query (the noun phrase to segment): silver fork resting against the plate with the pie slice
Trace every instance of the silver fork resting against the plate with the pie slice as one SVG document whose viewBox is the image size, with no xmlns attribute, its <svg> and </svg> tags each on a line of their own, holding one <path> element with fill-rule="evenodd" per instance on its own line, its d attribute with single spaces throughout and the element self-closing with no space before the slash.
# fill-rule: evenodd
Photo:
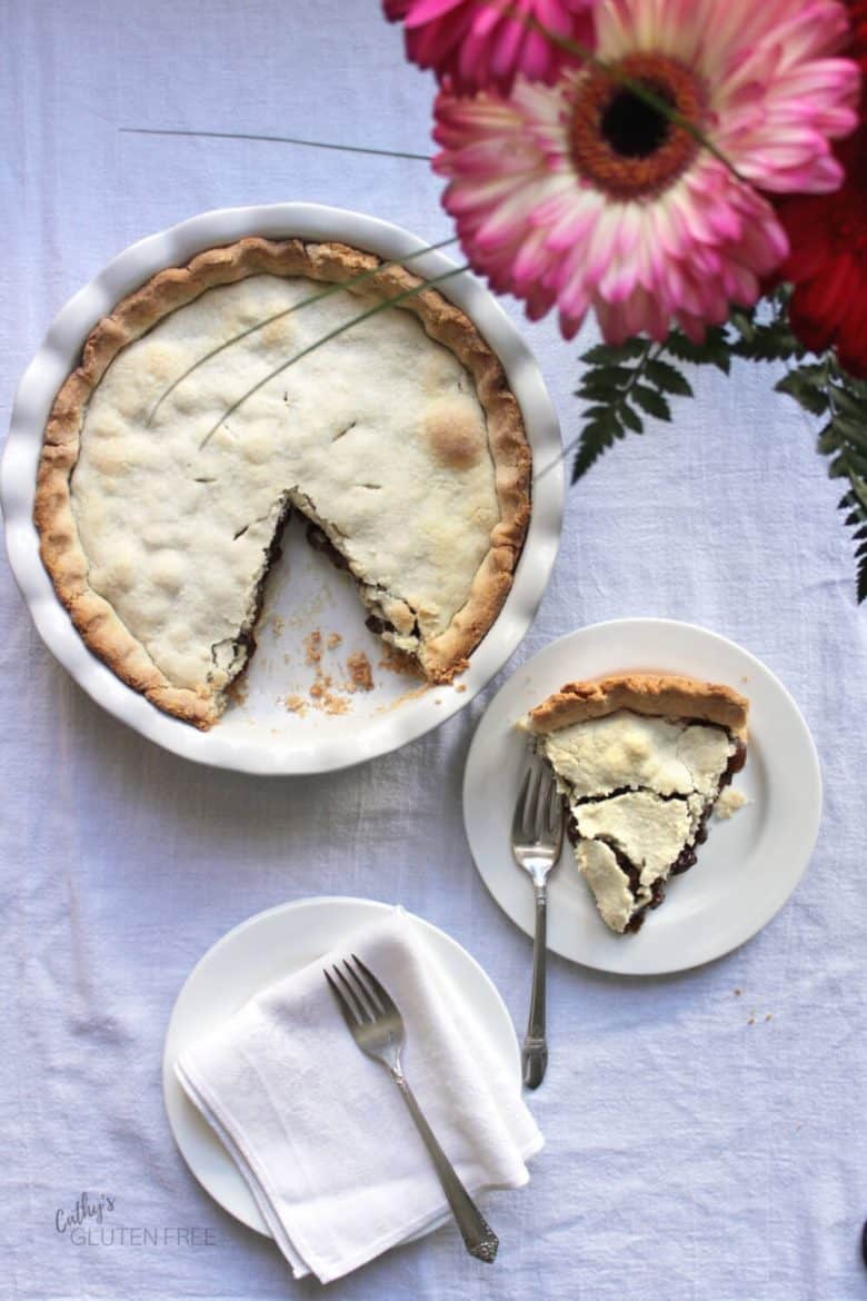
<svg viewBox="0 0 867 1301">
<path fill-rule="evenodd" d="M 545 1036 L 545 961 L 547 958 L 547 878 L 563 848 L 563 804 L 552 773 L 530 765 L 512 818 L 512 853 L 533 879 L 536 937 L 530 1015 L 521 1049 L 524 1084 L 538 1089 L 545 1079 L 549 1050 Z"/>
</svg>

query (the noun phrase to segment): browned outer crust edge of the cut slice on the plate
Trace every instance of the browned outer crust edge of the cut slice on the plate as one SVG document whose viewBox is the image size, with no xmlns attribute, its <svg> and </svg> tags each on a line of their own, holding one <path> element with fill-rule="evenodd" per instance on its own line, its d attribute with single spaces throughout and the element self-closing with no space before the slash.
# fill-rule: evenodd
<svg viewBox="0 0 867 1301">
<path fill-rule="evenodd" d="M 550 732 L 619 709 L 718 723 L 746 740 L 749 701 L 744 696 L 723 683 L 662 673 L 615 673 L 567 682 L 530 710 L 526 726 L 533 732 Z"/>
</svg>

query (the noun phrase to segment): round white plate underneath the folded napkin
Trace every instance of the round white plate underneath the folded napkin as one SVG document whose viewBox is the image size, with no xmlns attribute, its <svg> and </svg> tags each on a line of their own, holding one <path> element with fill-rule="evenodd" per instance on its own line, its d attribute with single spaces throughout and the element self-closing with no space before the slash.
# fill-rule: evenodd
<svg viewBox="0 0 867 1301">
<path fill-rule="evenodd" d="M 339 896 L 279 904 L 243 921 L 199 960 L 178 994 L 162 1054 L 162 1097 L 169 1124 L 187 1166 L 224 1210 L 270 1236 L 234 1160 L 188 1101 L 174 1075 L 181 1053 L 229 1020 L 266 985 L 315 961 L 344 935 L 389 912 L 373 899 Z M 432 948 L 458 981 L 467 1006 L 485 1025 L 494 1049 L 521 1090 L 521 1055 L 506 1004 L 490 977 L 465 948 L 417 917 Z"/>
</svg>

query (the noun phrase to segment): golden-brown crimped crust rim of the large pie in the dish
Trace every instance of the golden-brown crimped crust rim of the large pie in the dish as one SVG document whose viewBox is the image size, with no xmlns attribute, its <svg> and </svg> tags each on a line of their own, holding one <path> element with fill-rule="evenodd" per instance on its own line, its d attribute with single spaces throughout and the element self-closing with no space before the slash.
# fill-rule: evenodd
<svg viewBox="0 0 867 1301">
<path fill-rule="evenodd" d="M 55 398 L 39 461 L 34 522 L 40 556 L 57 596 L 88 649 L 118 678 L 165 713 L 200 729 L 213 726 L 220 718 L 231 682 L 247 665 L 272 554 L 266 554 L 251 591 L 247 617 L 235 635 L 222 687 L 208 692 L 173 684 L 112 604 L 88 583 L 88 559 L 78 535 L 71 493 L 88 401 L 110 363 L 129 343 L 208 289 L 256 275 L 302 276 L 341 284 L 377 267 L 381 271 L 364 281 L 365 294 L 376 293 L 385 301 L 422 284 L 400 265 L 382 263 L 372 254 L 337 242 L 248 237 L 209 248 L 187 265 L 157 272 L 103 317 L 84 342 L 81 364 Z M 521 411 L 503 367 L 469 317 L 434 289 L 425 289 L 395 306 L 412 312 L 425 333 L 448 349 L 472 376 L 485 415 L 499 505 L 499 520 L 491 530 L 490 546 L 476 571 L 468 600 L 448 627 L 426 643 L 421 671 L 429 682 L 439 684 L 451 682 L 467 667 L 467 657 L 490 630 L 511 589 L 530 514 L 530 450 Z M 447 462 L 450 455 L 460 457 L 460 449 L 443 446 L 441 455 Z M 279 518 L 274 519 L 274 545 L 291 505 L 328 535 L 328 523 L 317 520 L 303 503 L 290 501 L 290 496 L 286 494 L 281 510 L 276 511 Z M 359 591 L 364 600 L 361 584 Z"/>
</svg>

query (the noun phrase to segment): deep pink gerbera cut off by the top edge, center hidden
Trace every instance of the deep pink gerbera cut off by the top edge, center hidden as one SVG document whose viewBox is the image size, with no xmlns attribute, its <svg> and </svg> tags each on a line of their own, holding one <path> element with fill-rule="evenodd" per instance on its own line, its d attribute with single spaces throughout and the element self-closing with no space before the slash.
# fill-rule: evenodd
<svg viewBox="0 0 867 1301">
<path fill-rule="evenodd" d="M 507 91 L 516 73 L 554 82 L 575 55 L 551 44 L 528 20 L 585 47 L 593 44 L 595 0 L 383 0 L 386 18 L 403 20 L 407 55 L 448 75 L 459 91 Z"/>
</svg>

